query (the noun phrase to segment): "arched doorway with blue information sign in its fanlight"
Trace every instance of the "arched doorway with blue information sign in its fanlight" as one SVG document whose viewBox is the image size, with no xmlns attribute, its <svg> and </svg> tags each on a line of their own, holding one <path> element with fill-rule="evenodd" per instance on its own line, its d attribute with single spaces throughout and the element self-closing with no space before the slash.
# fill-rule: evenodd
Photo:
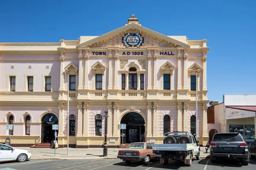
<svg viewBox="0 0 256 170">
<path fill-rule="evenodd" d="M 55 136 L 54 132 L 55 130 L 52 130 L 52 125 L 58 124 L 58 118 L 52 113 L 48 113 L 44 115 L 42 118 L 42 136 L 41 141 L 42 143 L 51 143 Z M 58 134 L 58 130 L 57 134 Z"/>
</svg>

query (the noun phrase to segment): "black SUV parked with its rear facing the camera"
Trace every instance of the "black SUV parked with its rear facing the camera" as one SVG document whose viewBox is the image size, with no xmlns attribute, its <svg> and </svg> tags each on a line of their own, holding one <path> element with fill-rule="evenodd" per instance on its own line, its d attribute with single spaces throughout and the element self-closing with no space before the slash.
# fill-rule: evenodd
<svg viewBox="0 0 256 170">
<path fill-rule="evenodd" d="M 210 143 L 210 159 L 238 159 L 243 165 L 248 165 L 249 150 L 240 133 L 215 133 Z"/>
</svg>

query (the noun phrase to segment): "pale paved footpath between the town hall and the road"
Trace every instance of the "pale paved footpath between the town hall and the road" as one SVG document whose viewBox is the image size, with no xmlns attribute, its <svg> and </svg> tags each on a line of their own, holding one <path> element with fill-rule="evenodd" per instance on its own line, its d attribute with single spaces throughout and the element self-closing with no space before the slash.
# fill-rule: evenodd
<svg viewBox="0 0 256 170">
<path fill-rule="evenodd" d="M 29 148 L 16 147 L 17 149 L 29 150 L 32 153 L 31 159 L 117 159 L 118 150 L 122 148 L 108 148 L 108 156 L 103 157 L 103 148 L 87 148 L 76 149 L 69 148 L 67 155 L 67 148 L 56 149 L 54 156 L 54 149 L 50 148 Z M 209 153 L 205 153 L 205 148 L 201 147 L 201 158 L 206 158 Z"/>
</svg>

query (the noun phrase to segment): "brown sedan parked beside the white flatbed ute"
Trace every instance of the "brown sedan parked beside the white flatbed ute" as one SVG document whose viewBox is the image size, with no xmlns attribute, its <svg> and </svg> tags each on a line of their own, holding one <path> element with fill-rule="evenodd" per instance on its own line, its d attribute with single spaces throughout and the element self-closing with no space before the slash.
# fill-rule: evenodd
<svg viewBox="0 0 256 170">
<path fill-rule="evenodd" d="M 129 144 L 125 149 L 119 150 L 117 158 L 122 159 L 128 164 L 131 161 L 143 161 L 144 164 L 148 164 L 150 159 L 156 157 L 153 153 L 151 143 L 135 142 Z"/>
</svg>

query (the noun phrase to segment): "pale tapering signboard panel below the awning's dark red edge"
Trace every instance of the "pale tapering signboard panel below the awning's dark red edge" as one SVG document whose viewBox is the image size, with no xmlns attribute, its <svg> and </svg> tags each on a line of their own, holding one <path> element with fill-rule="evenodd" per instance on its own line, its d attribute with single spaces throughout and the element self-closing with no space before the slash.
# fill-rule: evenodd
<svg viewBox="0 0 256 170">
<path fill-rule="evenodd" d="M 254 111 L 244 111 L 239 109 L 226 108 L 226 119 L 240 119 L 255 116 L 256 112 Z"/>
</svg>

